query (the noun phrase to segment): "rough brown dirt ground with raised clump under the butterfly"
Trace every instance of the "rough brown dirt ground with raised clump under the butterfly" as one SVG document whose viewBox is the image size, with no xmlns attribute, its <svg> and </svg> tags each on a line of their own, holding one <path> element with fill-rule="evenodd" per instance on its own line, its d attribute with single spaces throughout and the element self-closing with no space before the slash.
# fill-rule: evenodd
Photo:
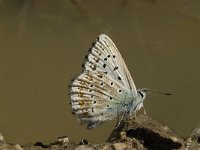
<svg viewBox="0 0 200 150">
<path fill-rule="evenodd" d="M 0 134 L 0 149 L 8 150 L 41 150 L 41 149 L 200 149 L 200 128 L 196 127 L 191 135 L 183 139 L 168 126 L 153 120 L 146 115 L 140 115 L 131 120 L 123 120 L 110 134 L 107 142 L 93 144 L 87 139 L 73 143 L 70 137 L 63 136 L 48 145 L 36 142 L 33 145 L 10 144 Z"/>
</svg>

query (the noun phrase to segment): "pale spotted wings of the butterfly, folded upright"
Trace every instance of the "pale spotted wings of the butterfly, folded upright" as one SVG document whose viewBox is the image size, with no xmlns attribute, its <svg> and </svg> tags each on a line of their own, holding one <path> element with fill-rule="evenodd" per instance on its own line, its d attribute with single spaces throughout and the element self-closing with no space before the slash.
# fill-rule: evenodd
<svg viewBox="0 0 200 150">
<path fill-rule="evenodd" d="M 93 129 L 115 118 L 122 101 L 137 91 L 123 58 L 105 34 L 93 43 L 83 67 L 72 83 L 72 111 Z"/>
</svg>

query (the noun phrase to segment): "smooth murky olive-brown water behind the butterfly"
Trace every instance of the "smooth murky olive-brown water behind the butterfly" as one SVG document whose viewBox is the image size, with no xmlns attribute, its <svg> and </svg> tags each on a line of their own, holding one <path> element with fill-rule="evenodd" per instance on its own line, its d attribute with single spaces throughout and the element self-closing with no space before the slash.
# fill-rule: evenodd
<svg viewBox="0 0 200 150">
<path fill-rule="evenodd" d="M 9 142 L 105 141 L 115 121 L 88 131 L 70 113 L 70 80 L 100 33 L 109 35 L 149 116 L 187 136 L 199 121 L 200 2 L 0 0 L 0 132 Z"/>
</svg>

